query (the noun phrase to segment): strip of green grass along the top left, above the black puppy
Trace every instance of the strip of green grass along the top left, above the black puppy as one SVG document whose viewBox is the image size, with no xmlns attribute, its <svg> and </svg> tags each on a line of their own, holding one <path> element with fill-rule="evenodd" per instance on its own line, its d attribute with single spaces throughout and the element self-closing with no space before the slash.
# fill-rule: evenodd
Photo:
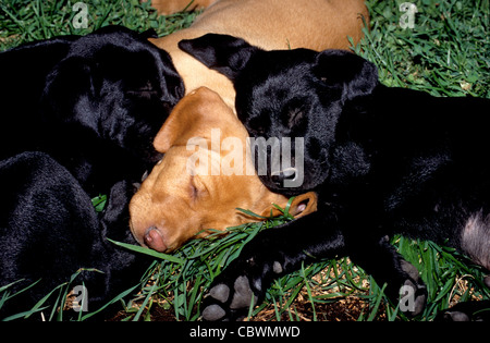
<svg viewBox="0 0 490 343">
<path fill-rule="evenodd" d="M 78 14 L 73 11 L 76 2 L 87 4 L 86 28 L 73 25 Z M 195 13 L 161 16 L 148 2 L 139 0 L 4 0 L 0 2 L 0 51 L 58 35 L 86 35 L 107 25 L 123 25 L 138 32 L 154 28 L 164 36 L 189 26 L 195 16 Z"/>
</svg>

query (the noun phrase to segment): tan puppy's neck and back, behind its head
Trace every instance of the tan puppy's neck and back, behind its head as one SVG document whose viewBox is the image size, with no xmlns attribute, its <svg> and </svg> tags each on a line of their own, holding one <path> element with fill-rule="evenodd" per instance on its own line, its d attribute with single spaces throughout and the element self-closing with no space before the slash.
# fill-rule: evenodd
<svg viewBox="0 0 490 343">
<path fill-rule="evenodd" d="M 167 3 L 172 2 L 182 1 Z M 363 16 L 368 21 L 363 0 L 219 0 L 189 28 L 150 40 L 170 53 L 187 94 L 206 86 L 234 109 L 231 82 L 181 51 L 179 41 L 216 33 L 243 38 L 266 50 L 348 49 L 347 36 L 355 44 L 363 37 Z"/>
</svg>

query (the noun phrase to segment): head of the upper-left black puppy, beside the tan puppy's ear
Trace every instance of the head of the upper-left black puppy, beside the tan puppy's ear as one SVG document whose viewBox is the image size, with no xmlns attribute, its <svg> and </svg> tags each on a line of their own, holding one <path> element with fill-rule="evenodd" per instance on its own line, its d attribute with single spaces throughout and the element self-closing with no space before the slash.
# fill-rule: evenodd
<svg viewBox="0 0 490 343">
<path fill-rule="evenodd" d="M 170 56 L 146 38 L 119 26 L 81 37 L 47 76 L 41 99 L 48 122 L 85 131 L 102 142 L 107 161 L 117 156 L 139 170 L 160 158 L 152 139 L 184 95 Z"/>
</svg>

